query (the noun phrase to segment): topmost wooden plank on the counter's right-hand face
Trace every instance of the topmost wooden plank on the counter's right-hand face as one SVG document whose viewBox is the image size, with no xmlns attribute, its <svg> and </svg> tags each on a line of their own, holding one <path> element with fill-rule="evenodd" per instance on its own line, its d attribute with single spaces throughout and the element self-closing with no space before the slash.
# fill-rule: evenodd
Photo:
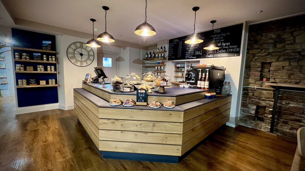
<svg viewBox="0 0 305 171">
<path fill-rule="evenodd" d="M 197 116 L 199 116 L 203 113 L 206 113 L 210 110 L 213 110 L 213 109 L 215 109 L 219 106 L 227 104 L 227 103 L 231 102 L 231 99 L 232 99 L 232 96 L 228 96 L 228 97 L 225 97 L 223 99 L 215 100 L 213 102 L 210 102 L 210 103 L 192 108 L 190 110 L 186 110 L 184 112 L 183 122 L 185 122 L 187 120 L 190 120 L 194 117 L 197 117 Z"/>
</svg>

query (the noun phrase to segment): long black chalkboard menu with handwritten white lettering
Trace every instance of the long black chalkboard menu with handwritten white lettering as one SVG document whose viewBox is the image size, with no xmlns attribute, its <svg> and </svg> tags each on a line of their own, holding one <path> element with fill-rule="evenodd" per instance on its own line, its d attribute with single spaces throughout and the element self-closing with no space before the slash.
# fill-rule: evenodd
<svg viewBox="0 0 305 171">
<path fill-rule="evenodd" d="M 243 23 L 198 33 L 203 39 L 203 42 L 199 44 L 184 43 L 188 36 L 170 39 L 168 44 L 168 60 L 239 56 L 242 26 Z M 210 44 L 213 40 L 219 49 L 203 49 L 203 47 L 206 47 L 206 44 Z"/>
</svg>

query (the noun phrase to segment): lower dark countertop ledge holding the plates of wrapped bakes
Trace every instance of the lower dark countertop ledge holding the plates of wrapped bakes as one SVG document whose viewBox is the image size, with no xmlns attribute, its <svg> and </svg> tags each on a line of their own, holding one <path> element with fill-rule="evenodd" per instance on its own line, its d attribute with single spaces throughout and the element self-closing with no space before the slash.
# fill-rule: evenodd
<svg viewBox="0 0 305 171">
<path fill-rule="evenodd" d="M 179 87 L 180 88 L 180 87 Z M 181 88 L 182 89 L 182 88 Z M 188 88 L 187 88 L 188 89 Z M 76 92 L 80 93 L 81 95 L 83 95 L 85 98 L 87 98 L 88 100 L 90 100 L 92 103 L 95 103 L 95 105 L 99 106 L 99 107 L 106 107 L 106 108 L 124 108 L 124 109 L 141 109 L 141 110 L 152 110 L 154 108 L 149 107 L 149 105 L 146 106 L 142 106 L 142 105 L 134 105 L 131 107 L 126 107 L 123 106 L 123 104 L 119 105 L 119 106 L 110 106 L 109 102 L 100 98 L 99 96 L 96 96 L 95 94 L 83 89 L 83 88 L 75 88 L 74 89 Z M 196 90 L 196 89 L 195 89 Z M 148 94 L 148 96 L 151 96 L 151 93 Z M 231 95 L 230 95 L 231 96 Z M 189 102 L 189 103 L 184 103 L 181 105 L 177 105 L 172 109 L 166 108 L 163 105 L 158 108 L 158 109 L 154 109 L 154 110 L 174 110 L 174 111 L 185 111 L 185 110 L 189 110 L 191 108 L 206 104 L 206 103 L 210 103 L 213 102 L 215 100 L 219 100 L 219 99 L 223 99 L 225 97 L 228 96 L 224 96 L 224 97 L 215 97 L 212 99 L 199 99 L 193 102 Z M 110 99 L 109 99 L 110 100 Z M 163 104 L 163 102 L 160 102 L 161 104 Z"/>
</svg>

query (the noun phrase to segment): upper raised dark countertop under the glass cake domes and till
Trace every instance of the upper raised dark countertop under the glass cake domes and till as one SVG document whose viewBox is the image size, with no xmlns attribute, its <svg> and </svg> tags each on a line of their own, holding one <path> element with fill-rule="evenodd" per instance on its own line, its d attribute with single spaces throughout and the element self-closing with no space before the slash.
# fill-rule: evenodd
<svg viewBox="0 0 305 171">
<path fill-rule="evenodd" d="M 97 88 L 97 89 L 101 89 L 102 91 L 108 92 L 109 94 L 136 95 L 136 91 L 133 91 L 133 92 L 111 91 L 110 84 L 106 84 L 106 85 L 100 85 L 97 83 L 83 83 L 83 84 L 89 85 L 89 86 Z M 138 86 L 139 85 L 137 85 L 136 87 L 138 87 Z M 152 89 L 152 92 L 148 93 L 148 94 L 149 94 L 149 96 L 183 96 L 185 94 L 205 92 L 205 91 L 210 91 L 210 90 L 214 90 L 214 89 L 202 90 L 202 89 L 190 89 L 190 88 L 184 88 L 184 87 L 170 87 L 170 88 L 165 88 L 164 93 L 160 93 L 160 92 Z"/>
</svg>

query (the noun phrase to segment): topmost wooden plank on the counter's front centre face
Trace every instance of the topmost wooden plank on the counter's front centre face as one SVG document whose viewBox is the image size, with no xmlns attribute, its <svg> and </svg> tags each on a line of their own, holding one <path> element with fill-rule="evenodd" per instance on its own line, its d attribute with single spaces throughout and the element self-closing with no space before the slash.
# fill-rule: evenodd
<svg viewBox="0 0 305 171">
<path fill-rule="evenodd" d="M 99 118 L 182 122 L 183 112 L 153 109 L 99 108 Z"/>
</svg>

